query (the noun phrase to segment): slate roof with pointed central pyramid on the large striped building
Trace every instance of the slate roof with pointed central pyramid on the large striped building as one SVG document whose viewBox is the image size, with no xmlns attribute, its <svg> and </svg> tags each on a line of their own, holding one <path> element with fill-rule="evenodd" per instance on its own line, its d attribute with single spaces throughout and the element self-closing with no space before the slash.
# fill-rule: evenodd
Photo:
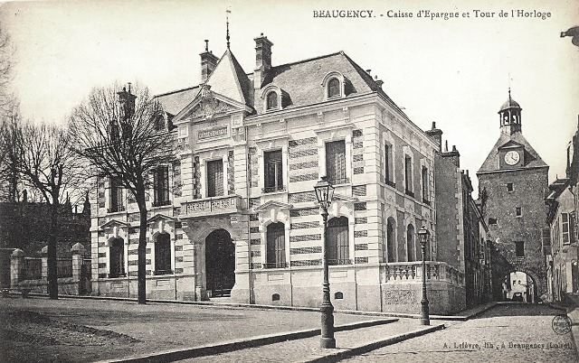
<svg viewBox="0 0 579 363">
<path fill-rule="evenodd" d="M 378 92 L 395 107 L 394 101 L 386 96 L 375 79 L 352 61 L 344 51 L 271 67 L 263 79 L 261 88 L 254 90 L 253 73 L 245 73 L 233 56 L 233 52 L 227 50 L 207 79 L 207 84 L 215 93 L 253 107 L 261 114 L 265 112 L 261 89 L 270 85 L 279 87 L 289 98 L 284 102 L 287 105 L 284 109 L 324 102 L 326 99 L 322 80 L 331 71 L 340 72 L 345 77 L 349 88 L 346 98 Z M 184 88 L 158 95 L 156 98 L 166 112 L 175 116 L 195 99 L 199 89 L 199 86 Z"/>
</svg>

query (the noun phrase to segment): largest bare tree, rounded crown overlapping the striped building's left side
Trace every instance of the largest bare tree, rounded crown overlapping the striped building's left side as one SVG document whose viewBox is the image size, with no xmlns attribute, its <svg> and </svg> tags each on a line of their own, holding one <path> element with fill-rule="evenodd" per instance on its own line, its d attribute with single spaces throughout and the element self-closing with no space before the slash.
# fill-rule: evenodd
<svg viewBox="0 0 579 363">
<path fill-rule="evenodd" d="M 160 164 L 174 160 L 173 135 L 164 113 L 147 88 L 136 94 L 118 86 L 96 88 L 71 116 L 75 152 L 101 177 L 119 182 L 138 204 L 138 303 L 146 303 L 147 189 L 150 174 Z"/>
</svg>

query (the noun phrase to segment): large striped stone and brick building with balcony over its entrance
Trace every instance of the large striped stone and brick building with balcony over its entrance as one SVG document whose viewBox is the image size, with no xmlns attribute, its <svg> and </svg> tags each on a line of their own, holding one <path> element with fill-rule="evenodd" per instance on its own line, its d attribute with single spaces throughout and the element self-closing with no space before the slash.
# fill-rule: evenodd
<svg viewBox="0 0 579 363">
<path fill-rule="evenodd" d="M 221 58 L 206 45 L 202 83 L 157 96 L 179 151 L 155 172 L 147 201 L 147 297 L 318 306 L 313 187 L 327 175 L 337 309 L 419 312 L 422 226 L 432 233 L 431 312 L 463 309 L 463 273 L 439 258 L 440 144 L 343 51 L 274 66 L 272 45 L 255 39 L 251 72 L 229 44 Z M 135 296 L 137 205 L 114 181 L 100 181 L 95 205 L 92 291 Z"/>
</svg>

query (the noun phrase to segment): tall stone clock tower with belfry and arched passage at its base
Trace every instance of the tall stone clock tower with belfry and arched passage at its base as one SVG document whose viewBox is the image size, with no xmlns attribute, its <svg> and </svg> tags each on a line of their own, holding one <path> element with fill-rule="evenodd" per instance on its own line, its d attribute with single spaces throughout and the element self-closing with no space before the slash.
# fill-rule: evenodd
<svg viewBox="0 0 579 363">
<path fill-rule="evenodd" d="M 480 166 L 479 195 L 498 258 L 493 259 L 495 298 L 503 297 L 505 277 L 524 272 L 533 280 L 527 301 L 546 293 L 541 233 L 546 227 L 548 165 L 522 134 L 522 108 L 511 98 L 498 110 L 500 134 Z M 510 282 L 509 282 L 510 283 Z"/>
</svg>

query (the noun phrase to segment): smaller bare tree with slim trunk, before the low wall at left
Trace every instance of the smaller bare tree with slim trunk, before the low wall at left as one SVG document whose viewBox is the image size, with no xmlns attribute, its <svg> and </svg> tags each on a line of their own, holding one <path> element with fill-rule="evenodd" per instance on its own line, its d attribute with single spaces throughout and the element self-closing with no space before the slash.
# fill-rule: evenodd
<svg viewBox="0 0 579 363">
<path fill-rule="evenodd" d="M 58 299 L 58 218 L 67 191 L 76 190 L 84 180 L 81 159 L 71 150 L 71 135 L 60 126 L 15 120 L 9 131 L 19 177 L 49 205 L 48 293 L 51 299 Z"/>
</svg>

